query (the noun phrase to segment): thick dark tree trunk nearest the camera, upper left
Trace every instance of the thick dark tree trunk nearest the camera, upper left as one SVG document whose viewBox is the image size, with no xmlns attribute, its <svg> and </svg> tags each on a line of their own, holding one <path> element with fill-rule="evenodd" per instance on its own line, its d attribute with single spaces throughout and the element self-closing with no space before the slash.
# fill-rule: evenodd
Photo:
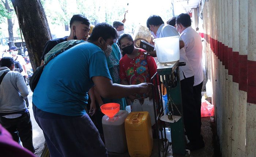
<svg viewBox="0 0 256 157">
<path fill-rule="evenodd" d="M 11 1 L 26 41 L 33 71 L 35 71 L 41 65 L 45 43 L 51 39 L 44 8 L 38 0 Z"/>
</svg>

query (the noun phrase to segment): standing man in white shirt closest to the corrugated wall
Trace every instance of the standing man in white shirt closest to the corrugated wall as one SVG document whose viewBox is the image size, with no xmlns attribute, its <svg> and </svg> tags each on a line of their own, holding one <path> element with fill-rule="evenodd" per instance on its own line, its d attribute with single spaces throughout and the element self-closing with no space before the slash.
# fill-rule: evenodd
<svg viewBox="0 0 256 157">
<path fill-rule="evenodd" d="M 202 41 L 200 35 L 191 27 L 191 19 L 188 14 L 180 14 L 177 17 L 176 27 L 185 43 L 184 48 L 186 56 L 195 74 L 193 93 L 196 100 L 196 114 L 199 123 L 198 127 L 195 124 L 195 130 L 197 130 L 197 135 L 200 134 L 200 138 L 196 141 L 190 141 L 191 148 L 195 150 L 204 146 L 203 137 L 201 135 L 201 91 L 203 85 Z"/>
</svg>

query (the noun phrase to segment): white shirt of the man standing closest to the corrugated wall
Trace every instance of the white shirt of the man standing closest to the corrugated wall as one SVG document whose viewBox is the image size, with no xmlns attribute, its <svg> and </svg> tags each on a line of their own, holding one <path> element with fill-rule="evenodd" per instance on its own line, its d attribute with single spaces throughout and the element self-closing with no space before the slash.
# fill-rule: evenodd
<svg viewBox="0 0 256 157">
<path fill-rule="evenodd" d="M 188 27 L 180 34 L 182 40 L 185 43 L 185 52 L 188 57 L 189 63 L 193 68 L 195 74 L 194 86 L 203 82 L 203 64 L 202 64 L 202 41 L 200 35 L 193 30 L 192 27 Z"/>
</svg>

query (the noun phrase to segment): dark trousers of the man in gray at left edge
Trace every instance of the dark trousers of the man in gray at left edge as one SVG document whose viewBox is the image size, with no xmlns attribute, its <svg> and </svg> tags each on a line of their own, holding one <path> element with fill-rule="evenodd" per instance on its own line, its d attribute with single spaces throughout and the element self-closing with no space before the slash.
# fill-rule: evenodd
<svg viewBox="0 0 256 157">
<path fill-rule="evenodd" d="M 29 112 L 18 118 L 4 118 L 0 116 L 0 122 L 3 127 L 11 133 L 12 138 L 16 142 L 19 142 L 20 138 L 24 148 L 27 148 L 33 153 L 35 152 L 32 137 L 32 123 Z"/>
</svg>

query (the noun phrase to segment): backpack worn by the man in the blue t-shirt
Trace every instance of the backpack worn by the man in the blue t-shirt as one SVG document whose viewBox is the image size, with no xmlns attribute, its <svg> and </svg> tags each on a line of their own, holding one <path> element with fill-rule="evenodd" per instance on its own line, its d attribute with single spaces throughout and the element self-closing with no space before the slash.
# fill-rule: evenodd
<svg viewBox="0 0 256 157">
<path fill-rule="evenodd" d="M 34 89 L 37 86 L 37 83 L 39 81 L 39 78 L 40 78 L 45 66 L 49 63 L 50 60 L 52 60 L 57 55 L 63 53 L 65 50 L 68 50 L 71 47 L 73 47 L 75 45 L 78 45 L 79 43 L 83 43 L 83 42 L 85 42 L 85 41 L 83 41 L 83 40 L 69 40 L 69 41 L 61 42 L 61 43 L 57 44 L 56 46 L 54 46 L 52 48 L 52 50 L 50 50 L 45 55 L 44 65 L 39 66 L 35 70 L 34 74 L 31 76 L 30 83 L 29 83 L 29 87 L 30 87 L 31 91 L 34 92 Z"/>
</svg>

